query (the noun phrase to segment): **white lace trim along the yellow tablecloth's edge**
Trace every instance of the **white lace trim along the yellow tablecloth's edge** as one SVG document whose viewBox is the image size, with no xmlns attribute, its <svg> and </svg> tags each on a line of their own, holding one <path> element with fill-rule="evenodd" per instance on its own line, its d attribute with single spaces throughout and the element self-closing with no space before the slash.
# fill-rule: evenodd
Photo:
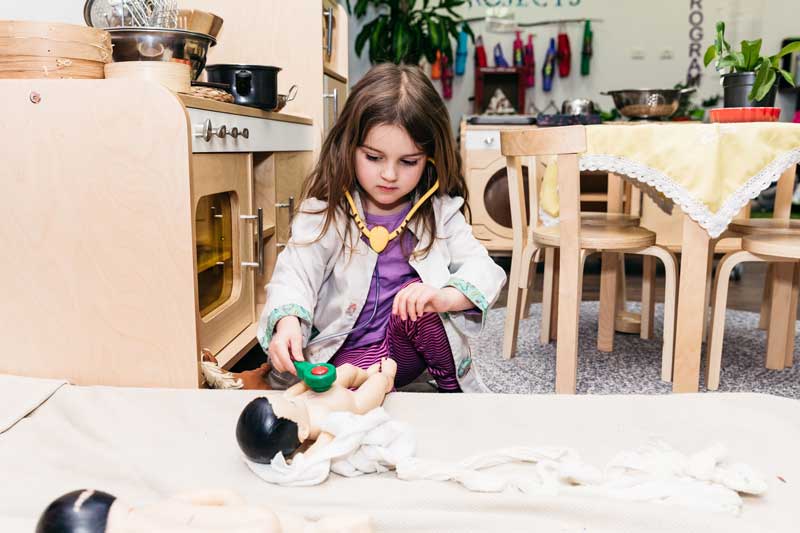
<svg viewBox="0 0 800 533">
<path fill-rule="evenodd" d="M 758 174 L 739 187 L 730 198 L 725 200 L 720 210 L 716 213 L 712 213 L 702 202 L 695 199 L 688 190 L 675 183 L 663 172 L 637 161 L 605 154 L 585 155 L 581 157 L 580 169 L 613 172 L 614 174 L 646 183 L 677 204 L 692 220 L 700 224 L 711 238 L 716 238 L 725 231 L 733 217 L 752 198 L 757 197 L 761 194 L 761 191 L 777 181 L 786 169 L 798 163 L 800 163 L 800 148 L 779 155 L 761 169 Z"/>
</svg>

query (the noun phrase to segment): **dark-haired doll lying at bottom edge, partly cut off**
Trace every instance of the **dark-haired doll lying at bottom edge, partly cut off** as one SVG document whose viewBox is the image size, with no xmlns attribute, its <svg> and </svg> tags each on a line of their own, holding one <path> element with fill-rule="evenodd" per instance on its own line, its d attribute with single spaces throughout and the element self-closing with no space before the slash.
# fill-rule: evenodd
<svg viewBox="0 0 800 533">
<path fill-rule="evenodd" d="M 371 533 L 366 515 L 308 522 L 291 513 L 247 505 L 229 491 L 194 492 L 131 507 L 111 494 L 76 490 L 51 503 L 36 533 Z"/>
</svg>

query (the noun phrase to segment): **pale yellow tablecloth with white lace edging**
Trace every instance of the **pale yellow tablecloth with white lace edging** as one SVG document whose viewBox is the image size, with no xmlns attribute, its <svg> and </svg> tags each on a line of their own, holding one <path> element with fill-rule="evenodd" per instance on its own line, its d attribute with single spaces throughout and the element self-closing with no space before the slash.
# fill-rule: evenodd
<svg viewBox="0 0 800 533">
<path fill-rule="evenodd" d="M 800 162 L 800 124 L 624 123 L 586 128 L 581 170 L 636 180 L 679 205 L 711 237 L 751 198 Z M 557 176 L 548 167 L 541 208 L 558 216 Z"/>
</svg>

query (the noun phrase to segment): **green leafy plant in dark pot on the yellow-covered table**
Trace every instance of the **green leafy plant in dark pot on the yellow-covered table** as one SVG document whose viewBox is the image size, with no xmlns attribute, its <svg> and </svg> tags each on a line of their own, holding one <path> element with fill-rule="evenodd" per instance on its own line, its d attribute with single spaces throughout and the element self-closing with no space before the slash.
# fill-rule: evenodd
<svg viewBox="0 0 800 533">
<path fill-rule="evenodd" d="M 717 60 L 717 72 L 722 74 L 725 107 L 772 107 L 778 74 L 794 87 L 791 73 L 780 67 L 786 54 L 800 50 L 800 42 L 791 43 L 774 56 L 761 55 L 761 39 L 742 41 L 740 50 L 731 49 L 725 40 L 725 23 L 717 22 L 714 44 L 706 50 L 703 61 L 708 66 Z"/>
</svg>

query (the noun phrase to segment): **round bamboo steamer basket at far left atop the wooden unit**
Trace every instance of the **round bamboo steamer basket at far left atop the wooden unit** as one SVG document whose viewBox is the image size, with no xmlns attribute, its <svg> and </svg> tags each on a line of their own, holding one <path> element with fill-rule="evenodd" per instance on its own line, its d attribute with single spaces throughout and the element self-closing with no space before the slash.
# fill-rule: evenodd
<svg viewBox="0 0 800 533">
<path fill-rule="evenodd" d="M 104 30 L 0 20 L 0 78 L 102 79 L 109 61 L 111 36 Z"/>
</svg>

